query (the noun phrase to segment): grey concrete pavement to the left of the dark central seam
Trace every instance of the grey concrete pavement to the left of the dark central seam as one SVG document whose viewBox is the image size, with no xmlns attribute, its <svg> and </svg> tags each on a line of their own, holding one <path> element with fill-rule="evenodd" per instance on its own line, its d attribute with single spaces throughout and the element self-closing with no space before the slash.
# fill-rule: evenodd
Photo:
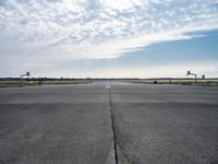
<svg viewBox="0 0 218 164">
<path fill-rule="evenodd" d="M 1 164 L 110 164 L 105 84 L 0 90 Z"/>
</svg>

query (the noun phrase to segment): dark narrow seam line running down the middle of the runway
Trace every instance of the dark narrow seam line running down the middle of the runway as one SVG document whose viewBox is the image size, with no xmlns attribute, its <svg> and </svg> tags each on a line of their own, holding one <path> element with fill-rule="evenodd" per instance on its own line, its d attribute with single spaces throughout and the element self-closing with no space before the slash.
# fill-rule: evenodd
<svg viewBox="0 0 218 164">
<path fill-rule="evenodd" d="M 116 164 L 118 164 L 117 136 L 116 136 L 116 127 L 114 127 L 114 117 L 113 117 L 113 112 L 112 112 L 110 86 L 108 87 L 108 95 L 109 95 L 109 109 L 110 109 L 112 134 L 113 134 L 114 160 L 116 160 Z"/>
</svg>

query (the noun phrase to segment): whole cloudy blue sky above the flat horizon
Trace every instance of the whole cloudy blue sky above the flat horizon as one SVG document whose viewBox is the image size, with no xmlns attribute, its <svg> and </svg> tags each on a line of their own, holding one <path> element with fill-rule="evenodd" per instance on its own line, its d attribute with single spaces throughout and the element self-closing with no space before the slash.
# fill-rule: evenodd
<svg viewBox="0 0 218 164">
<path fill-rule="evenodd" d="M 0 77 L 218 78 L 218 0 L 0 0 Z"/>
</svg>

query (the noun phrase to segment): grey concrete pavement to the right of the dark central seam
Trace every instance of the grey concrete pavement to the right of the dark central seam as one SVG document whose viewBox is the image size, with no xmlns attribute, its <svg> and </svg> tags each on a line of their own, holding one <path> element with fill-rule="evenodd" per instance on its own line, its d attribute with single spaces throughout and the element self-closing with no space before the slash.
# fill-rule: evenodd
<svg viewBox="0 0 218 164">
<path fill-rule="evenodd" d="M 132 84 L 111 93 L 120 163 L 218 163 L 218 87 Z"/>
</svg>

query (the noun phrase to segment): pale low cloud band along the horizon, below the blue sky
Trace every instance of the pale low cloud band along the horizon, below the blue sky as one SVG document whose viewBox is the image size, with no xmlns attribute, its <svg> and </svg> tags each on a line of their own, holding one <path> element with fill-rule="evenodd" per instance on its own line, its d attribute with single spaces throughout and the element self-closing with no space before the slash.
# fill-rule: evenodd
<svg viewBox="0 0 218 164">
<path fill-rule="evenodd" d="M 206 74 L 206 78 L 218 77 L 217 61 L 191 62 L 180 65 L 159 65 L 157 66 L 135 66 L 134 68 L 119 67 L 100 70 L 90 70 L 89 72 L 76 71 L 75 77 L 92 77 L 92 78 L 186 78 L 186 71 L 191 70 L 198 78 Z M 72 72 L 61 72 L 65 77 L 70 77 Z M 193 77 L 190 77 L 193 78 Z"/>
</svg>

